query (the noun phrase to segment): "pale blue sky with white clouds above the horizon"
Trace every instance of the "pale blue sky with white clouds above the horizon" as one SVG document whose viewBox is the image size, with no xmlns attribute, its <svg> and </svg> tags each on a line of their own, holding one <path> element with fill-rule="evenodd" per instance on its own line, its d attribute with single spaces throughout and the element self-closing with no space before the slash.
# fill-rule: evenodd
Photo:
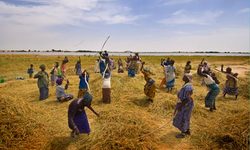
<svg viewBox="0 0 250 150">
<path fill-rule="evenodd" d="M 249 52 L 249 0 L 0 0 L 0 49 Z"/>
</svg>

